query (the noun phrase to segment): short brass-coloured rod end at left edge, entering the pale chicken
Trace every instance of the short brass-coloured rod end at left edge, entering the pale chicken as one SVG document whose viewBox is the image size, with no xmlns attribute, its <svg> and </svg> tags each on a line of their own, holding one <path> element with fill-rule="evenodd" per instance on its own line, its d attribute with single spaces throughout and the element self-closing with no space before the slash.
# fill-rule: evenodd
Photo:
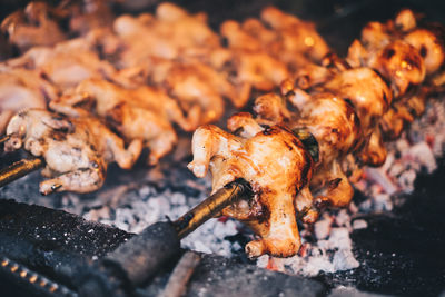
<svg viewBox="0 0 445 297">
<path fill-rule="evenodd" d="M 40 158 L 22 159 L 0 170 L 0 188 L 44 166 Z"/>
</svg>

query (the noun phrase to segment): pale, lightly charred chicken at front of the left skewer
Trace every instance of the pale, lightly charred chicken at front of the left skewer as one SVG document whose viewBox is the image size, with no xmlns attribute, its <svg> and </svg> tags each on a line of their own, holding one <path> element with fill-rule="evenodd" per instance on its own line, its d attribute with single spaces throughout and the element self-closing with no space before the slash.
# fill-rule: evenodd
<svg viewBox="0 0 445 297">
<path fill-rule="evenodd" d="M 10 120 L 4 142 L 7 151 L 23 147 L 36 157 L 42 157 L 47 179 L 40 192 L 89 192 L 99 189 L 107 166 L 116 161 L 129 169 L 138 158 L 142 145 L 132 141 L 128 149 L 123 140 L 95 118 L 69 119 L 47 110 L 30 109 Z"/>
</svg>

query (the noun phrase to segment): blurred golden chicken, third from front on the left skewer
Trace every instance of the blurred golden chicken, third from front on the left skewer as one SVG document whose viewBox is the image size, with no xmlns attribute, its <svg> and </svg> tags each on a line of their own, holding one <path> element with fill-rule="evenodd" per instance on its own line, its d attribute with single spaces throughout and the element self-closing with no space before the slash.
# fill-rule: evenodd
<svg viewBox="0 0 445 297">
<path fill-rule="evenodd" d="M 198 60 L 152 58 L 146 62 L 146 66 L 125 69 L 120 73 L 135 72 L 136 76 L 140 75 L 139 81 L 161 86 L 186 111 L 199 108 L 200 125 L 216 121 L 224 115 L 224 98 L 228 98 L 238 108 L 249 99 L 250 87 L 247 83 L 234 85 L 228 81 L 226 73 Z"/>
</svg>

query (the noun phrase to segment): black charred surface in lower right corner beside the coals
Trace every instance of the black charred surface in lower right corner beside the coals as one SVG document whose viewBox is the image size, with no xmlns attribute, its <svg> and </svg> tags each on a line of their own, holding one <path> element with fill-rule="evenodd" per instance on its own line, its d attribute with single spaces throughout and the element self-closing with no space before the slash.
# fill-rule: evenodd
<svg viewBox="0 0 445 297">
<path fill-rule="evenodd" d="M 445 161 L 419 176 L 416 190 L 392 212 L 362 216 L 367 228 L 352 234 L 357 269 L 324 274 L 335 287 L 403 296 L 438 296 L 445 289 Z"/>
</svg>

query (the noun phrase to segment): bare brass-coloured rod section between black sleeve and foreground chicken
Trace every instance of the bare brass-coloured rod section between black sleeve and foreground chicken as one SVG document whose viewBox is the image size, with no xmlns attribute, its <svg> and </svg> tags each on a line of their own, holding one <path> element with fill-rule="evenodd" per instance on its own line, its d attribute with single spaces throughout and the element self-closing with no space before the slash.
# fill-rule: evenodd
<svg viewBox="0 0 445 297">
<path fill-rule="evenodd" d="M 231 205 L 241 196 L 250 194 L 250 185 L 244 179 L 237 179 L 227 184 L 206 200 L 190 209 L 182 217 L 174 221 L 179 239 L 182 239 L 208 219 L 215 217 L 222 208 Z"/>
</svg>

